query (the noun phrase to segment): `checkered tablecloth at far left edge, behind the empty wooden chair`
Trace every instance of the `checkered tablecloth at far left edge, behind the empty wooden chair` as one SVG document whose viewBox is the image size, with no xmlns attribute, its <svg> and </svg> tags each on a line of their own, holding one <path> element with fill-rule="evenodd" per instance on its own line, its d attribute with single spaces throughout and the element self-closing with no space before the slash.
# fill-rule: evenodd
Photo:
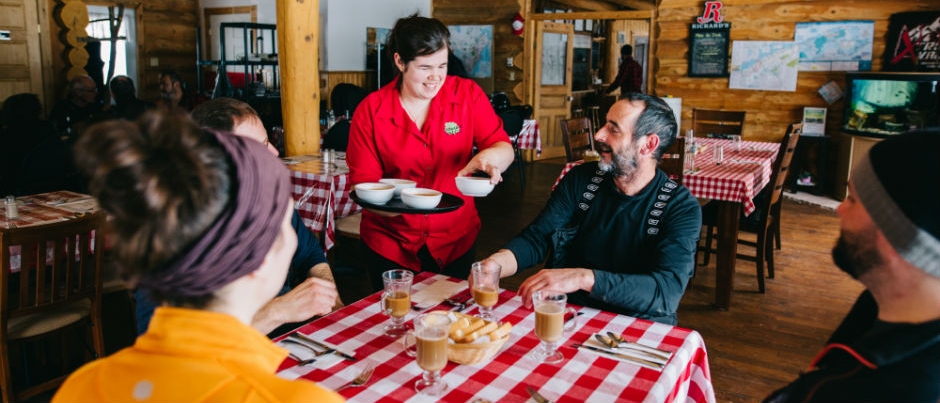
<svg viewBox="0 0 940 403">
<path fill-rule="evenodd" d="M 98 210 L 98 202 L 94 197 L 68 190 L 23 196 L 16 200 L 19 217 L 11 220 L 6 217 L 6 214 L 0 214 L 0 232 L 9 228 L 32 227 L 68 221 L 76 218 L 79 214 L 93 213 Z M 91 252 L 94 252 L 94 239 L 91 240 L 89 245 Z M 47 248 L 47 261 L 52 261 L 53 252 L 51 248 Z M 21 245 L 10 245 L 10 271 L 13 273 L 20 271 L 22 266 L 21 253 Z"/>
</svg>

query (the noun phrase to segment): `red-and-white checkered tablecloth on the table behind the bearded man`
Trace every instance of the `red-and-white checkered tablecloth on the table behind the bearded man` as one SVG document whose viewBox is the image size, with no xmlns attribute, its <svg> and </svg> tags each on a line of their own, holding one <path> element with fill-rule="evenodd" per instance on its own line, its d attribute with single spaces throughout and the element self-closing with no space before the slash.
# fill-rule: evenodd
<svg viewBox="0 0 940 403">
<path fill-rule="evenodd" d="M 697 138 L 695 142 L 702 144 L 695 155 L 695 172 L 686 173 L 682 184 L 697 198 L 740 202 L 744 214 L 753 213 L 754 196 L 770 182 L 780 143 L 743 141 L 738 152 L 731 140 Z M 712 147 L 717 144 L 724 149 L 725 162 L 721 165 L 714 162 Z M 582 163 L 579 160 L 565 164 L 552 189 L 571 168 Z"/>
</svg>

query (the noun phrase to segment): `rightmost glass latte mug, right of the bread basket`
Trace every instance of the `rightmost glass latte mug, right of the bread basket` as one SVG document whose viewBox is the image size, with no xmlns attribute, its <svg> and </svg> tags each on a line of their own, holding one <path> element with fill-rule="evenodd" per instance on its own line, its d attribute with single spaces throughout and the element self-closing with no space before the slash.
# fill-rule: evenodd
<svg viewBox="0 0 940 403">
<path fill-rule="evenodd" d="M 557 364 L 565 359 L 558 351 L 558 342 L 564 333 L 570 333 L 577 326 L 578 315 L 574 309 L 566 307 L 568 296 L 564 293 L 536 291 L 532 293 L 532 305 L 535 306 L 535 336 L 539 346 L 529 353 L 536 361 L 545 364 Z M 565 322 L 565 313 L 571 319 Z"/>
</svg>

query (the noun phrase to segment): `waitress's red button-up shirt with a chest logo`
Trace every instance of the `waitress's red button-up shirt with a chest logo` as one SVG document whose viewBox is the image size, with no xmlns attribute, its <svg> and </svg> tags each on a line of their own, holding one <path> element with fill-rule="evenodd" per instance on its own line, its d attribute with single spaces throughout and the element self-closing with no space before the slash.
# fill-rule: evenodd
<svg viewBox="0 0 940 403">
<path fill-rule="evenodd" d="M 454 178 L 483 150 L 509 142 L 483 90 L 472 80 L 448 76 L 431 100 L 419 130 L 399 101 L 397 80 L 370 94 L 354 114 L 346 162 L 352 183 L 381 178 L 410 179 L 418 187 L 463 198 L 464 206 L 442 214 L 382 217 L 362 214 L 360 237 L 369 248 L 414 271 L 418 250 L 428 246 L 440 266 L 470 250 L 480 230 L 473 198 L 457 190 Z"/>
</svg>

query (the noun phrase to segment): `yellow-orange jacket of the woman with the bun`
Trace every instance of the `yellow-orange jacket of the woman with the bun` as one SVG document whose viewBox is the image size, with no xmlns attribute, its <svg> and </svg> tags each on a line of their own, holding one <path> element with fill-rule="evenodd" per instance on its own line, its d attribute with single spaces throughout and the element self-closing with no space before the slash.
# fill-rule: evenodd
<svg viewBox="0 0 940 403">
<path fill-rule="evenodd" d="M 53 402 L 342 402 L 275 376 L 287 351 L 232 316 L 157 308 L 133 346 L 79 368 Z"/>
</svg>

